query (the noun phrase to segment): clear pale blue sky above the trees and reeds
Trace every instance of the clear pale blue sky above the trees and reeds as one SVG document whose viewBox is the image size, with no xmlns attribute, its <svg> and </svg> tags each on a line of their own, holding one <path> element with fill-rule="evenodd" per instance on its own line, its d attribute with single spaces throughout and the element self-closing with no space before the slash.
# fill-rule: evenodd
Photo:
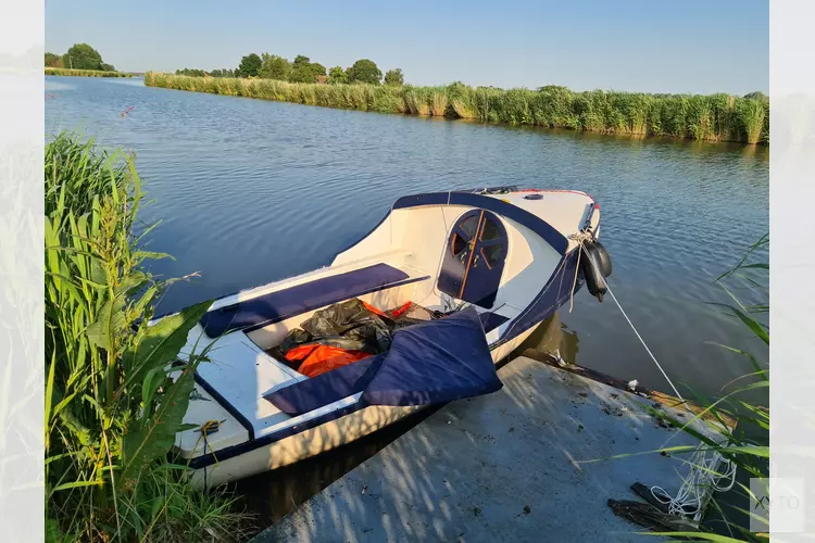
<svg viewBox="0 0 815 543">
<path fill-rule="evenodd" d="M 46 50 L 118 70 L 235 67 L 243 54 L 369 58 L 409 83 L 648 92 L 768 90 L 766 0 L 138 2 L 48 0 Z"/>
</svg>

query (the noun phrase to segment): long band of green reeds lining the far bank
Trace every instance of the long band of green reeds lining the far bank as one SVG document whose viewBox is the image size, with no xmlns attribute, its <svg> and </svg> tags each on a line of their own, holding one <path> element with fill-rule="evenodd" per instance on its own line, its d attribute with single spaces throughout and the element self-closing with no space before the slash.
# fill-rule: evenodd
<svg viewBox="0 0 815 543">
<path fill-rule="evenodd" d="M 769 100 L 729 94 L 645 94 L 564 87 L 540 90 L 319 85 L 148 72 L 145 85 L 325 108 L 471 118 L 486 123 L 567 128 L 704 141 L 769 142 Z"/>
</svg>

